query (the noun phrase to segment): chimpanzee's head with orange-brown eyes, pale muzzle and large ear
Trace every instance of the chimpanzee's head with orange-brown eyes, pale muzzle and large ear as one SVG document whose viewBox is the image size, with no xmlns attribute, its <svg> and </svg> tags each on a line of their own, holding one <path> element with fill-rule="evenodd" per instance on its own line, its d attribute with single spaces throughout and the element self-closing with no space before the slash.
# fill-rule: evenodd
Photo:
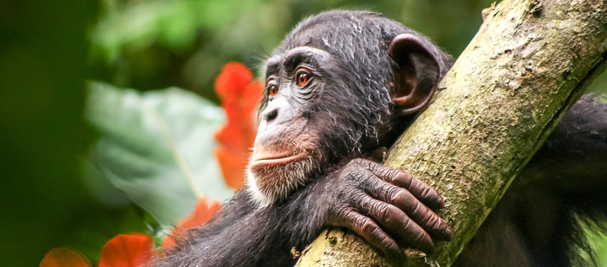
<svg viewBox="0 0 607 267">
<path fill-rule="evenodd" d="M 389 146 L 402 118 L 427 106 L 448 58 L 378 13 L 337 10 L 300 22 L 265 64 L 247 171 L 253 200 L 268 206 L 331 164 Z"/>
</svg>

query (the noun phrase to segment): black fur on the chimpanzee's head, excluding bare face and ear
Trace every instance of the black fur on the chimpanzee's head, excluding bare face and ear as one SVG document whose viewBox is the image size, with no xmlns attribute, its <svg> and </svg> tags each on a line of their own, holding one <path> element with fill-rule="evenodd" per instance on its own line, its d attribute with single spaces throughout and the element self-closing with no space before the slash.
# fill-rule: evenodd
<svg viewBox="0 0 607 267">
<path fill-rule="evenodd" d="M 339 68 L 322 73 L 334 83 L 331 89 L 339 90 L 324 90 L 322 99 L 313 99 L 307 104 L 313 107 L 310 115 L 330 114 L 334 118 L 330 125 L 324 126 L 331 130 L 325 131 L 321 139 L 321 147 L 330 154 L 327 158 L 333 159 L 330 163 L 379 144 L 392 143 L 398 135 L 383 134 L 400 133 L 402 129 L 390 130 L 391 127 L 406 125 L 402 120 L 390 120 L 392 101 L 387 92 L 395 65 L 388 55 L 388 45 L 400 33 L 415 32 L 379 13 L 331 11 L 304 19 L 274 51 L 276 55 L 295 47 L 311 46 L 327 50 L 341 61 L 336 63 Z M 422 39 L 434 47 L 429 39 Z M 444 66 L 442 77 L 453 58 L 441 50 L 435 52 L 439 64 Z M 261 110 L 266 101 L 264 98 Z"/>
</svg>

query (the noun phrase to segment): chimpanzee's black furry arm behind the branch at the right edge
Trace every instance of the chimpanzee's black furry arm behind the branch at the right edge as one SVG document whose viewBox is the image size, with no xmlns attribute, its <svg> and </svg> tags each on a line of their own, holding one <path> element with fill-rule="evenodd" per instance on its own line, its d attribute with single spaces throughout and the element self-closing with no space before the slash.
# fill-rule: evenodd
<svg viewBox="0 0 607 267">
<path fill-rule="evenodd" d="M 555 127 L 520 178 L 565 191 L 606 187 L 607 104 L 584 95 Z M 525 183 L 526 181 L 521 181 Z"/>
</svg>

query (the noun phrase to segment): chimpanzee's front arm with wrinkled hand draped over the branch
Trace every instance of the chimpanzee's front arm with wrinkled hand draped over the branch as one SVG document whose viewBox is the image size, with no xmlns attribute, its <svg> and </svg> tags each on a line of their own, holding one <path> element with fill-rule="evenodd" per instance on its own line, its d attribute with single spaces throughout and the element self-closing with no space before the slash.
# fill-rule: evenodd
<svg viewBox="0 0 607 267">
<path fill-rule="evenodd" d="M 157 266 L 292 266 L 291 248 L 301 251 L 325 226 L 353 229 L 395 257 L 402 256 L 395 240 L 432 251 L 430 235 L 452 237 L 428 208 L 444 206 L 436 191 L 372 161 L 352 160 L 265 208 L 254 208 L 246 194 L 178 240 Z"/>
</svg>

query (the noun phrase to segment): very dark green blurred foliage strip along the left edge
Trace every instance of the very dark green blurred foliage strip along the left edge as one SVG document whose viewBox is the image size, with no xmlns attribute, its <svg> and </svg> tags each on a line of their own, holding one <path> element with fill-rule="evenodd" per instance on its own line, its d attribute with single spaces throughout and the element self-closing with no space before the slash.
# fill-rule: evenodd
<svg viewBox="0 0 607 267">
<path fill-rule="evenodd" d="M 4 266 L 38 266 L 92 214 L 114 211 L 87 194 L 78 154 L 89 1 L 0 2 L 0 249 Z"/>
</svg>

